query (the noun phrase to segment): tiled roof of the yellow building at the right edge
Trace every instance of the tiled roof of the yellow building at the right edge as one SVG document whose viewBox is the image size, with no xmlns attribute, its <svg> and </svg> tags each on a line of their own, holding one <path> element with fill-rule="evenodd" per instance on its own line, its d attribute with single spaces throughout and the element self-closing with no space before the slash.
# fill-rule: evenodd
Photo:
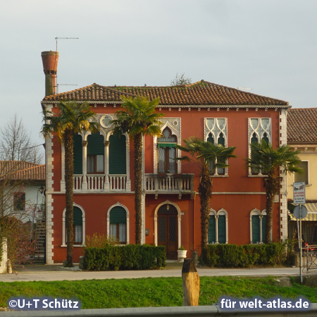
<svg viewBox="0 0 317 317">
<path fill-rule="evenodd" d="M 317 143 L 317 108 L 294 108 L 287 112 L 287 143 Z"/>
</svg>

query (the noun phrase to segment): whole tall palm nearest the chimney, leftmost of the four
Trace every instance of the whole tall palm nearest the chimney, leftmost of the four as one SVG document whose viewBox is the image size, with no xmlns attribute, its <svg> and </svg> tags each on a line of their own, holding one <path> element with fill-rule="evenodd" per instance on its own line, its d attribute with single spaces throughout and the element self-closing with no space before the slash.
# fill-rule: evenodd
<svg viewBox="0 0 317 317">
<path fill-rule="evenodd" d="M 66 187 L 66 234 L 67 234 L 67 264 L 73 266 L 73 134 L 82 131 L 98 132 L 99 123 L 92 122 L 95 116 L 87 102 L 78 104 L 75 101 L 61 101 L 58 113 L 43 110 L 44 124 L 41 133 L 49 137 L 56 132 L 58 139 L 65 148 L 65 187 Z"/>
</svg>

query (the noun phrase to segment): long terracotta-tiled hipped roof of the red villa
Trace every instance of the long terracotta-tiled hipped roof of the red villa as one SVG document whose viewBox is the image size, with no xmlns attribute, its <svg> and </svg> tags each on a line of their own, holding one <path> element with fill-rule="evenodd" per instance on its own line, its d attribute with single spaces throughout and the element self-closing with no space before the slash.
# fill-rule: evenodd
<svg viewBox="0 0 317 317">
<path fill-rule="evenodd" d="M 159 97 L 160 106 L 287 106 L 288 102 L 263 97 L 239 89 L 216 85 L 201 80 L 190 85 L 160 87 L 101 86 L 92 84 L 47 96 L 43 101 L 95 101 L 96 103 L 120 103 L 121 97 L 142 95 L 150 100 Z"/>
</svg>

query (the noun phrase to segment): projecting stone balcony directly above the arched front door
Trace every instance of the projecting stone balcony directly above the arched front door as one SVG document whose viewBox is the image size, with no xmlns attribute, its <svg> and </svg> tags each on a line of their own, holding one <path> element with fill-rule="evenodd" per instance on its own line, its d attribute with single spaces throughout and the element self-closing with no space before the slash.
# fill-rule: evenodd
<svg viewBox="0 0 317 317">
<path fill-rule="evenodd" d="M 145 174 L 147 194 L 194 194 L 194 174 Z"/>
</svg>

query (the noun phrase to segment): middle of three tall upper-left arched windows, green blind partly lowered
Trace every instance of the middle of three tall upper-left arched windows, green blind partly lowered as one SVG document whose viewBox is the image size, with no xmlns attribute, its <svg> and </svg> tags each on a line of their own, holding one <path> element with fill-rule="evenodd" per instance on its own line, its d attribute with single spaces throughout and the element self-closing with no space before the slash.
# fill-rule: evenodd
<svg viewBox="0 0 317 317">
<path fill-rule="evenodd" d="M 87 173 L 104 173 L 104 137 L 99 132 L 87 137 Z"/>
</svg>

